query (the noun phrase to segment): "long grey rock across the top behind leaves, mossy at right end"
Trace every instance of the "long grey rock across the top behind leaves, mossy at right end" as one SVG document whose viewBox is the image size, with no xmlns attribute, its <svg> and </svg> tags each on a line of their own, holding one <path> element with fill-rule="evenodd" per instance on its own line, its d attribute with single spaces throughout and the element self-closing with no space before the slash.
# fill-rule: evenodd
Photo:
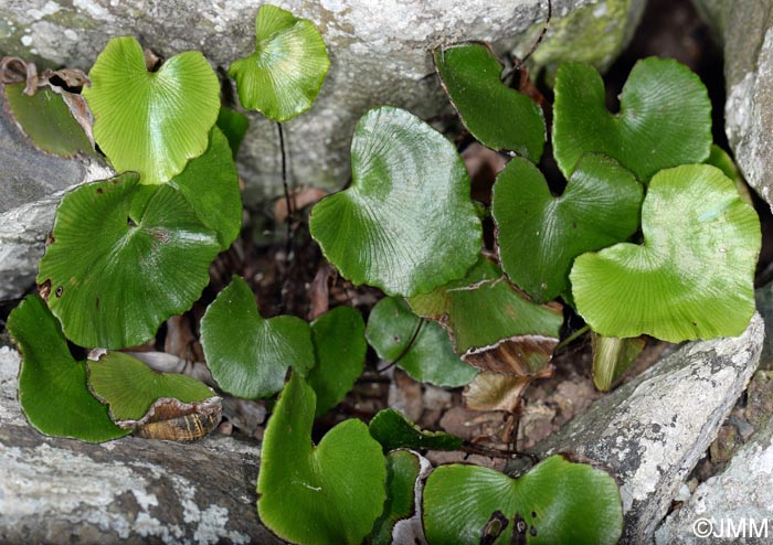
<svg viewBox="0 0 773 545">
<path fill-rule="evenodd" d="M 201 50 L 227 68 L 254 47 L 257 1 L 194 0 L 10 0 L 0 2 L 0 54 L 34 57 L 44 64 L 87 70 L 107 40 L 133 34 L 165 56 Z M 541 26 L 542 0 L 275 0 L 315 22 L 332 66 L 314 108 L 287 124 L 292 170 L 299 184 L 343 185 L 357 119 L 389 104 L 428 118 L 447 100 L 433 74 L 430 50 L 464 40 L 530 40 Z M 580 52 L 608 64 L 633 34 L 645 0 L 553 0 L 554 43 L 571 35 L 570 47 L 544 42 L 544 62 Z M 570 13 L 580 15 L 568 18 Z M 562 20 L 568 20 L 564 24 Z M 530 31 L 528 39 L 518 38 Z M 515 38 L 513 38 L 515 36 Z M 584 39 L 584 42 L 582 40 Z M 582 43 L 581 43 L 582 42 Z M 279 152 L 276 128 L 253 116 L 241 152 L 247 201 L 276 194 Z"/>
</svg>

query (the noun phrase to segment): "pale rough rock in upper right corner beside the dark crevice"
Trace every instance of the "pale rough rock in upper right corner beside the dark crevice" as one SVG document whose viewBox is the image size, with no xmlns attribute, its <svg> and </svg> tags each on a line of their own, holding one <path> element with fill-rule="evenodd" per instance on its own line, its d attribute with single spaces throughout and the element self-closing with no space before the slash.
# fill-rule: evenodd
<svg viewBox="0 0 773 545">
<path fill-rule="evenodd" d="M 726 132 L 746 181 L 773 206 L 773 0 L 693 0 L 724 49 Z"/>
</svg>

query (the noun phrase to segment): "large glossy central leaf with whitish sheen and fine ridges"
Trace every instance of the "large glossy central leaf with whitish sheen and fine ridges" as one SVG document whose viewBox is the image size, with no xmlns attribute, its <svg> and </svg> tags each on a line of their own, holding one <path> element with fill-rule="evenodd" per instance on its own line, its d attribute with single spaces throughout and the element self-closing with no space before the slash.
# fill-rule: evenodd
<svg viewBox="0 0 773 545">
<path fill-rule="evenodd" d="M 310 229 L 352 282 L 424 293 L 464 276 L 480 221 L 456 148 L 405 110 L 368 111 L 354 129 L 351 188 L 319 201 Z"/>
</svg>

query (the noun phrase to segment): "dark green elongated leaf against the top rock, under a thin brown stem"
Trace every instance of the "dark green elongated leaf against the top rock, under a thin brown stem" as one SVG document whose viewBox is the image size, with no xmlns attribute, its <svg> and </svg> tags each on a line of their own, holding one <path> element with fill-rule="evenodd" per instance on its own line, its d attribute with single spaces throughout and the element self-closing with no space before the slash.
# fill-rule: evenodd
<svg viewBox="0 0 773 545">
<path fill-rule="evenodd" d="M 477 140 L 495 150 L 540 160 L 546 137 L 542 109 L 501 82 L 502 65 L 489 45 L 437 49 L 434 60 L 452 104 Z"/>
</svg>

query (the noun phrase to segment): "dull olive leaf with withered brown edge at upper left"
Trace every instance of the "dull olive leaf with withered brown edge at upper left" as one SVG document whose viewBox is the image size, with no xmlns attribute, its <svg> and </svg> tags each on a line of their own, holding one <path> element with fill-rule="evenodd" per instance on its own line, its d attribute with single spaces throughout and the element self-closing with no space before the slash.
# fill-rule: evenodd
<svg viewBox="0 0 773 545">
<path fill-rule="evenodd" d="M 11 116 L 38 148 L 61 157 L 74 157 L 78 152 L 94 154 L 83 127 L 70 113 L 62 95 L 39 88 L 28 96 L 24 87 L 24 83 L 2 86 Z"/>
</svg>

